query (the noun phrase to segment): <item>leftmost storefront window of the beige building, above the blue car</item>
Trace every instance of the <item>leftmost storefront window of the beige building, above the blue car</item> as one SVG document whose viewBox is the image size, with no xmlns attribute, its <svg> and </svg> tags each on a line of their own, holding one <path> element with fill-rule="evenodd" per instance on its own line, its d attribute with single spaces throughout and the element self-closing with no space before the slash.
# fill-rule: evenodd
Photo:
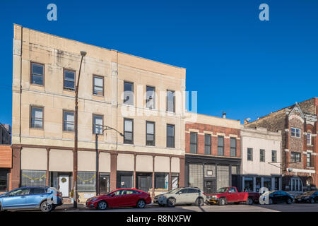
<svg viewBox="0 0 318 226">
<path fill-rule="evenodd" d="M 46 171 L 21 170 L 21 186 L 45 186 Z"/>
</svg>

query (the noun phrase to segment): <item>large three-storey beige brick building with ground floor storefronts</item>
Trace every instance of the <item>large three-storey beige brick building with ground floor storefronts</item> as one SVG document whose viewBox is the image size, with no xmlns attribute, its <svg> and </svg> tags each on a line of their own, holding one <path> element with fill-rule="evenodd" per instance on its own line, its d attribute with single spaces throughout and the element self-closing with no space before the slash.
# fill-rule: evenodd
<svg viewBox="0 0 318 226">
<path fill-rule="evenodd" d="M 14 25 L 12 188 L 55 186 L 69 197 L 80 51 L 81 200 L 183 186 L 185 69 Z"/>
</svg>

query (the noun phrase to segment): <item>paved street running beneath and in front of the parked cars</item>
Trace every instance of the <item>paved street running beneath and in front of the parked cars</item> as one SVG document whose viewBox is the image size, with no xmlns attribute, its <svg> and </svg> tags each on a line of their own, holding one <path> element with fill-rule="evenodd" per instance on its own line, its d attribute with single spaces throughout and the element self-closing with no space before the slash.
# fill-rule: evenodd
<svg viewBox="0 0 318 226">
<path fill-rule="evenodd" d="M 292 205 L 287 204 L 276 204 L 276 205 L 253 205 L 247 206 L 241 205 L 227 205 L 227 206 L 176 206 L 175 208 L 160 207 L 158 205 L 150 205 L 146 208 L 110 208 L 107 210 L 95 210 L 87 209 L 83 204 L 78 204 L 78 210 L 73 210 L 71 204 L 64 204 L 59 206 L 55 211 L 81 211 L 81 212 L 318 212 L 318 203 L 293 203 Z"/>
</svg>

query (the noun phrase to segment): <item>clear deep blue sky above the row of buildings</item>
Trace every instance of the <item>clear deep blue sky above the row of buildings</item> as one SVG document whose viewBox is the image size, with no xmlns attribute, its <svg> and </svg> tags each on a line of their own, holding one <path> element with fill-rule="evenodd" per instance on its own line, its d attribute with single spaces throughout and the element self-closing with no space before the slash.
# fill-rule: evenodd
<svg viewBox="0 0 318 226">
<path fill-rule="evenodd" d="M 1 123 L 11 124 L 13 23 L 184 67 L 201 114 L 256 119 L 318 96 L 317 0 L 1 0 L 0 23 Z"/>
</svg>

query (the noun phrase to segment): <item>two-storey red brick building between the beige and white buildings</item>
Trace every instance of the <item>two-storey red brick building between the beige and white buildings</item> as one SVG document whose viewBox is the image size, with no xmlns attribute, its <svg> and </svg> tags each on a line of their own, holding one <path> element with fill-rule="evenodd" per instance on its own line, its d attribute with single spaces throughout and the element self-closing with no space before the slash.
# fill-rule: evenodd
<svg viewBox="0 0 318 226">
<path fill-rule="evenodd" d="M 185 185 L 211 194 L 239 186 L 240 121 L 192 114 L 185 124 Z"/>
</svg>

